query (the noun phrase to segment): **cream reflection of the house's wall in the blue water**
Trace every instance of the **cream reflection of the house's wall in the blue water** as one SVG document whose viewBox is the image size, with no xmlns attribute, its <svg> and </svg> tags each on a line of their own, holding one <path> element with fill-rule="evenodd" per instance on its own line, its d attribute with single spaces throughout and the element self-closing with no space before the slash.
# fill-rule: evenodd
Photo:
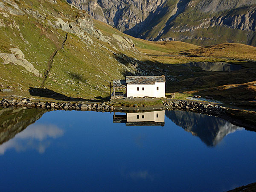
<svg viewBox="0 0 256 192">
<path fill-rule="evenodd" d="M 158 118 L 157 118 L 158 114 Z M 139 115 L 139 119 L 137 119 Z M 144 119 L 142 116 L 144 115 Z M 143 122 L 143 121 L 154 121 L 164 122 L 165 111 L 151 111 L 145 113 L 127 113 L 127 122 Z"/>
</svg>

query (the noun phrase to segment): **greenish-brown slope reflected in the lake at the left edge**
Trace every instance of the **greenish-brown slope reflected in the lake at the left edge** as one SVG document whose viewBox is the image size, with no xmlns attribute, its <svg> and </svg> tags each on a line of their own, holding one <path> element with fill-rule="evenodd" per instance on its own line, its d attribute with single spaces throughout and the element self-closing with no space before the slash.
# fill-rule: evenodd
<svg viewBox="0 0 256 192">
<path fill-rule="evenodd" d="M 0 109 L 0 145 L 34 123 L 45 112 L 45 109 Z"/>
</svg>

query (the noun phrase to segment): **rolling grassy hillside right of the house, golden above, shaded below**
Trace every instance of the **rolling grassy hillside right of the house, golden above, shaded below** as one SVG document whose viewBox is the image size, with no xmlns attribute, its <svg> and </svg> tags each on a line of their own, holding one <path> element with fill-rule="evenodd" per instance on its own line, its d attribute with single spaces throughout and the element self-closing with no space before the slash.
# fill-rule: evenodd
<svg viewBox="0 0 256 192">
<path fill-rule="evenodd" d="M 153 55 L 157 61 L 169 64 L 179 81 L 167 92 L 211 96 L 238 106 L 256 107 L 256 47 L 243 44 L 217 44 L 190 49 L 175 54 Z M 240 65 L 234 71 L 204 71 L 199 67 L 182 67 L 179 63 L 221 61 Z"/>
</svg>

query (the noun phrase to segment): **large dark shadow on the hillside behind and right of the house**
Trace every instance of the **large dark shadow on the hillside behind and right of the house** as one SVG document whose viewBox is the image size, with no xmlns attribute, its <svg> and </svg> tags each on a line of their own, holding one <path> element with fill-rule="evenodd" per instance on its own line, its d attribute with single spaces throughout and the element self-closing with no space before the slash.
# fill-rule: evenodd
<svg viewBox="0 0 256 192">
<path fill-rule="evenodd" d="M 181 64 L 159 63 L 149 60 L 135 60 L 127 55 L 122 55 L 122 64 L 137 63 L 137 71 L 122 72 L 123 76 L 166 76 L 166 93 L 194 90 L 204 90 L 228 84 L 243 84 L 255 81 L 255 62 L 251 61 L 230 61 L 229 64 L 242 66 L 239 70 L 231 71 L 207 71 L 201 67 L 189 67 Z M 205 61 L 206 62 L 206 61 Z M 141 73 L 142 72 L 142 73 Z M 145 72 L 145 73 L 144 73 Z M 204 93 L 204 91 L 203 91 Z M 200 93 L 200 94 L 203 94 Z M 199 94 L 199 93 L 198 93 Z M 251 93 L 253 94 L 253 92 Z M 205 94 L 204 94 L 205 95 Z M 236 97 L 238 94 L 234 94 Z M 207 96 L 215 96 L 210 94 Z"/>
</svg>

